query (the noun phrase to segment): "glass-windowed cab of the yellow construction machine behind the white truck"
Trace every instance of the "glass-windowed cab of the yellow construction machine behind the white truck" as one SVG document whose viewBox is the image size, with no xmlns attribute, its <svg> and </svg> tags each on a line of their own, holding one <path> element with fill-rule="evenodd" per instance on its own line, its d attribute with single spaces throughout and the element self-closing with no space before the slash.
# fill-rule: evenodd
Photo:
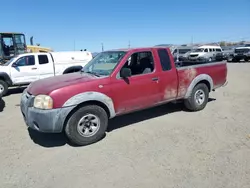
<svg viewBox="0 0 250 188">
<path fill-rule="evenodd" d="M 0 33 L 0 64 L 27 51 L 23 33 Z"/>
</svg>

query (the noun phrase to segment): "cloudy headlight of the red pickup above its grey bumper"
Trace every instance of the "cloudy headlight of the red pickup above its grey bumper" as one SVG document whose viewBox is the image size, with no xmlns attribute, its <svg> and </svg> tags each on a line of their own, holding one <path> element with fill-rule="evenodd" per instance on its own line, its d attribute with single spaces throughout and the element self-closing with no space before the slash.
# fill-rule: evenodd
<svg viewBox="0 0 250 188">
<path fill-rule="evenodd" d="M 34 107 L 39 109 L 52 109 L 53 99 L 48 95 L 37 95 L 34 99 Z"/>
</svg>

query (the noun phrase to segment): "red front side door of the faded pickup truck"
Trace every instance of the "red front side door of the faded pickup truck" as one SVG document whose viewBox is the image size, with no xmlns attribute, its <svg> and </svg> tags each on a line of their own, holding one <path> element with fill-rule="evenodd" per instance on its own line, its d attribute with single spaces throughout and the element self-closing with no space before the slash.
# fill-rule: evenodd
<svg viewBox="0 0 250 188">
<path fill-rule="evenodd" d="M 150 63 L 143 62 L 145 58 L 141 54 L 146 54 Z M 150 50 L 136 52 L 123 67 L 131 69 L 131 77 L 123 79 L 118 73 L 111 78 L 111 93 L 116 112 L 122 114 L 157 104 L 160 101 L 160 88 L 153 53 Z M 148 68 L 151 69 L 149 72 L 143 71 Z"/>
</svg>

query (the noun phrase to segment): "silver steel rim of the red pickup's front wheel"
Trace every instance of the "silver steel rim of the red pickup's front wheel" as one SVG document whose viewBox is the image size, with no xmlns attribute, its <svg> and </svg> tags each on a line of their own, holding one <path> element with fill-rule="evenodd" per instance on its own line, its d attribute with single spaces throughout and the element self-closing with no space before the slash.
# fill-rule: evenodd
<svg viewBox="0 0 250 188">
<path fill-rule="evenodd" d="M 94 114 L 86 114 L 77 123 L 77 131 L 83 137 L 91 137 L 100 129 L 100 119 Z"/>
</svg>

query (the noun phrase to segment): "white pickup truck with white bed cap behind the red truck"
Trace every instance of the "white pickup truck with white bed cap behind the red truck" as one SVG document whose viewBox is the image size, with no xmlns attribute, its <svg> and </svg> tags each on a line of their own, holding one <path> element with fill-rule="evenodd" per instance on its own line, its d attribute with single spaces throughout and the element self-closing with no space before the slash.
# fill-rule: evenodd
<svg viewBox="0 0 250 188">
<path fill-rule="evenodd" d="M 25 53 L 0 66 L 0 96 L 11 86 L 28 85 L 33 81 L 77 72 L 93 58 L 88 51 Z"/>
</svg>

